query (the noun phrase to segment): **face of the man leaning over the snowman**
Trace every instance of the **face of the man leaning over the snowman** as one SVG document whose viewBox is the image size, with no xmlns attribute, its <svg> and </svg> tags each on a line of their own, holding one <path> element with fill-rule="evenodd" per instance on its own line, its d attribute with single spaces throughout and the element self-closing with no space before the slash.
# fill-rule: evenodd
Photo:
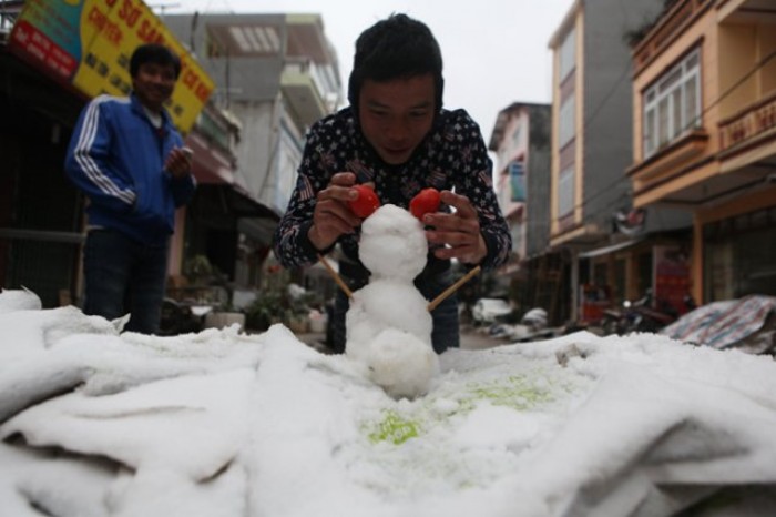
<svg viewBox="0 0 776 517">
<path fill-rule="evenodd" d="M 407 162 L 433 123 L 433 77 L 376 82 L 367 79 L 358 98 L 361 131 L 388 164 Z"/>
</svg>

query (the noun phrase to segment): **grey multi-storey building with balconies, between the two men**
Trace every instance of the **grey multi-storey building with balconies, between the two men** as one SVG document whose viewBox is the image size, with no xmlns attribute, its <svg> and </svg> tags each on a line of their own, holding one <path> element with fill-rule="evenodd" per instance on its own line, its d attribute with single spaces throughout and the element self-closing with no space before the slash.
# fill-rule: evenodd
<svg viewBox="0 0 776 517">
<path fill-rule="evenodd" d="M 236 285 L 259 286 L 306 131 L 343 98 L 336 52 L 319 14 L 192 13 L 164 21 L 214 78 L 215 105 L 239 124 L 231 181 L 253 202 L 229 205 L 225 226 L 201 232 L 193 249 L 226 268 Z M 205 216 L 200 227 L 218 220 Z"/>
</svg>

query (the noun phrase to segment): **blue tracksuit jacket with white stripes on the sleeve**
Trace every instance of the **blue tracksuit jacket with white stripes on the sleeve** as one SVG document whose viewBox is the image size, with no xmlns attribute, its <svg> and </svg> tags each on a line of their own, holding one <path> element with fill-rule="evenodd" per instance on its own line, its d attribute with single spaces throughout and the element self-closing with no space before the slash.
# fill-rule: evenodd
<svg viewBox="0 0 776 517">
<path fill-rule="evenodd" d="M 137 98 L 100 95 L 82 111 L 64 170 L 89 197 L 89 224 L 121 231 L 145 244 L 166 242 L 175 209 L 194 193 L 188 175 L 174 179 L 164 159 L 183 145 L 166 112 L 156 129 Z"/>
</svg>

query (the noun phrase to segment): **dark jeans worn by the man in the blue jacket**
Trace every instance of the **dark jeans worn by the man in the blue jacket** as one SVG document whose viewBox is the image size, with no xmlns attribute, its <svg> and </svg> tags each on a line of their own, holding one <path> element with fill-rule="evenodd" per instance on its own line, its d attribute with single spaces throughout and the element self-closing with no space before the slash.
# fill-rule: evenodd
<svg viewBox="0 0 776 517">
<path fill-rule="evenodd" d="M 83 255 L 89 315 L 131 314 L 125 331 L 159 332 L 167 274 L 167 244 L 146 245 L 115 230 L 92 230 Z"/>
</svg>

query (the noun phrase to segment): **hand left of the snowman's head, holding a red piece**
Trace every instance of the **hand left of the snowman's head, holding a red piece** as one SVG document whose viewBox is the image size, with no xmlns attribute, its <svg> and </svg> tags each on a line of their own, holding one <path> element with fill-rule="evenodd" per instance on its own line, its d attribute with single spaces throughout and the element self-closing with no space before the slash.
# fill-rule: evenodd
<svg viewBox="0 0 776 517">
<path fill-rule="evenodd" d="M 361 220 L 348 206 L 348 201 L 358 197 L 356 189 L 351 189 L 355 184 L 356 174 L 338 172 L 331 176 L 328 186 L 318 192 L 313 226 L 307 234 L 317 250 L 326 250 L 340 235 L 353 233 L 361 224 Z"/>
</svg>

